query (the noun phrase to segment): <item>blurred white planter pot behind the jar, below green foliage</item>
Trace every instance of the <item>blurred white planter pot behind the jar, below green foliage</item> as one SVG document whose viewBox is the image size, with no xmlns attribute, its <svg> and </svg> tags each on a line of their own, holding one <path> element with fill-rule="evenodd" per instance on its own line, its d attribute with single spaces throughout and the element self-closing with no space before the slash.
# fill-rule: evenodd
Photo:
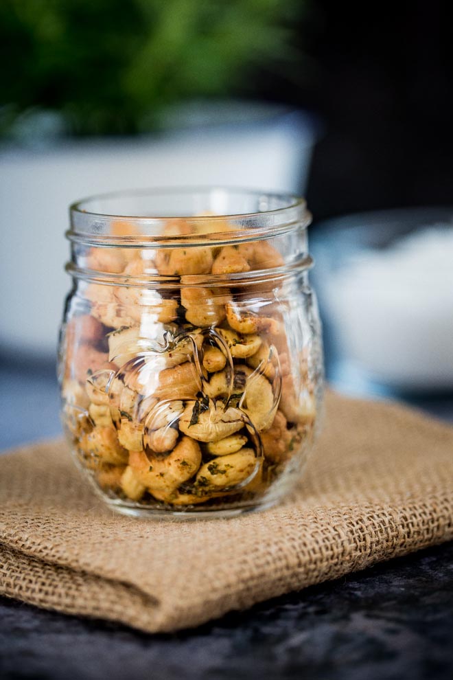
<svg viewBox="0 0 453 680">
<path fill-rule="evenodd" d="M 263 109 L 259 109 L 261 112 Z M 314 144 L 303 113 L 266 109 L 240 124 L 160 137 L 77 140 L 0 154 L 0 351 L 51 356 L 70 281 L 75 199 L 128 188 L 224 184 L 301 193 Z M 272 115 L 269 115 L 272 114 Z M 244 120 L 244 117 L 242 117 Z"/>
</svg>

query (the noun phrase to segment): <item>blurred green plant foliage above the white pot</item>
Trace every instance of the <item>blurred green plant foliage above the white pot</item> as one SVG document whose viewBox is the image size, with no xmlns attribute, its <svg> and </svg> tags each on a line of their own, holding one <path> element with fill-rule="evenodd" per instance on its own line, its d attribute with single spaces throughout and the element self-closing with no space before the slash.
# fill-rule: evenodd
<svg viewBox="0 0 453 680">
<path fill-rule="evenodd" d="M 257 69 L 300 60 L 305 3 L 1 0 L 3 133 L 36 112 L 71 134 L 135 133 L 168 104 L 243 93 Z"/>
</svg>

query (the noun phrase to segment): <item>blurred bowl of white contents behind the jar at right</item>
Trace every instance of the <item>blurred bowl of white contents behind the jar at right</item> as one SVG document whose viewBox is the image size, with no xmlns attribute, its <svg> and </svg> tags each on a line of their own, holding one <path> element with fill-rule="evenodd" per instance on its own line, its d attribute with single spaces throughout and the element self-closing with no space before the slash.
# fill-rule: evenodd
<svg viewBox="0 0 453 680">
<path fill-rule="evenodd" d="M 310 245 L 328 365 L 400 392 L 453 389 L 453 208 L 327 220 Z"/>
</svg>

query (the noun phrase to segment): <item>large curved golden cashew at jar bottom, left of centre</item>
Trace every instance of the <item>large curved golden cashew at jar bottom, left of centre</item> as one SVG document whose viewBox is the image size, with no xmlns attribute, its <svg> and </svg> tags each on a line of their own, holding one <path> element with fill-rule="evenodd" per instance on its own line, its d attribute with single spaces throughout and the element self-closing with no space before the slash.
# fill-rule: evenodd
<svg viewBox="0 0 453 680">
<path fill-rule="evenodd" d="M 200 446 L 189 437 L 183 437 L 172 453 L 164 458 L 148 457 L 144 451 L 131 451 L 129 454 L 130 466 L 151 493 L 153 490 L 171 492 L 176 489 L 194 476 L 200 463 Z"/>
</svg>

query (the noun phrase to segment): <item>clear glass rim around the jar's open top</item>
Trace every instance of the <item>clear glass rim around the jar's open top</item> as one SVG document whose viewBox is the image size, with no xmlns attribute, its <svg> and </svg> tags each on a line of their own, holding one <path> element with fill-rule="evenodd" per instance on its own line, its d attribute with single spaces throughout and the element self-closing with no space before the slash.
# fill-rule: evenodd
<svg viewBox="0 0 453 680">
<path fill-rule="evenodd" d="M 210 214 L 140 214 L 135 210 L 135 214 L 126 214 L 126 210 L 106 209 L 105 206 L 118 205 L 123 201 L 130 205 L 132 201 L 154 199 L 194 199 L 204 197 L 209 200 L 213 207 L 227 205 L 227 201 L 236 198 L 242 203 L 255 201 L 259 209 L 241 211 L 222 211 L 213 210 Z M 307 210 L 305 199 L 287 192 L 262 191 L 258 189 L 235 188 L 228 186 L 184 186 L 184 187 L 161 187 L 144 188 L 135 190 L 121 190 L 96 194 L 88 198 L 81 199 L 72 203 L 70 208 L 71 229 L 67 233 L 70 240 L 83 240 L 92 245 L 131 245 L 141 244 L 163 245 L 172 242 L 190 242 L 191 245 L 200 245 L 201 242 L 212 240 L 250 240 L 255 238 L 270 238 L 279 234 L 282 230 L 291 230 L 297 227 L 305 227 L 311 221 L 310 212 Z M 189 212 L 189 211 L 187 211 Z M 200 211 L 198 211 L 200 212 Z M 187 225 L 202 224 L 204 229 L 202 234 L 191 234 L 190 236 L 163 236 L 161 229 L 168 220 L 181 219 Z M 136 235 L 113 235 L 110 226 L 115 220 L 124 223 L 134 223 L 141 229 L 141 234 Z M 219 231 L 218 224 L 225 221 L 235 223 L 235 230 L 225 229 Z M 209 224 L 213 225 L 212 231 Z M 217 228 L 216 228 L 217 225 Z"/>
</svg>

